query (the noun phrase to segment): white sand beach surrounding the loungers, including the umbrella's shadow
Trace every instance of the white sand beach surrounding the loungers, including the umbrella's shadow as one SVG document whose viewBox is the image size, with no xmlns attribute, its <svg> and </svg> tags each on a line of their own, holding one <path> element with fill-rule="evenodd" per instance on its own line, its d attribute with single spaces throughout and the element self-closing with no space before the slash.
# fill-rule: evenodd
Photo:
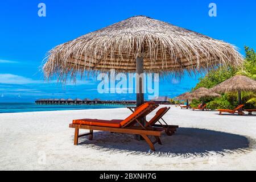
<svg viewBox="0 0 256 182">
<path fill-rule="evenodd" d="M 255 115 L 218 115 L 171 106 L 164 119 L 180 128 L 171 137 L 164 134 L 163 146 L 155 144 L 156 152 L 133 135 L 101 131 L 92 141 L 82 137 L 79 146 L 73 145 L 74 129 L 68 127 L 72 119 L 123 119 L 129 114 L 126 108 L 0 114 L 0 169 L 256 169 Z"/>
</svg>

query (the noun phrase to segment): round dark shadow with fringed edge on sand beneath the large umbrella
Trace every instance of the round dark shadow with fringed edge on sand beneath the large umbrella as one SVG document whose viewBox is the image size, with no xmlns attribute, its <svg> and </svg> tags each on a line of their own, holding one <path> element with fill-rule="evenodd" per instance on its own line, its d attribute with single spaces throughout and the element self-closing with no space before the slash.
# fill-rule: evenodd
<svg viewBox="0 0 256 182">
<path fill-rule="evenodd" d="M 88 137 L 79 139 L 82 147 L 93 147 L 106 152 L 130 152 L 131 154 L 150 154 L 157 156 L 197 157 L 213 154 L 232 154 L 250 152 L 255 148 L 255 140 L 219 131 L 180 128 L 172 136 L 161 137 L 163 146 L 155 144 L 156 152 L 149 150 L 145 141 L 137 141 L 133 135 L 109 132 L 96 132 L 92 141 Z"/>
</svg>

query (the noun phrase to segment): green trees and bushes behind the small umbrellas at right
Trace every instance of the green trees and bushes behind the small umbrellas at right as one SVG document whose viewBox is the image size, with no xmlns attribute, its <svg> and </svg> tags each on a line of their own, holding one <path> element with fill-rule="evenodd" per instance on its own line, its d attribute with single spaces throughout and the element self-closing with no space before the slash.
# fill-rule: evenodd
<svg viewBox="0 0 256 182">
<path fill-rule="evenodd" d="M 209 71 L 207 75 L 199 78 L 199 83 L 192 88 L 193 90 L 201 87 L 213 88 L 217 84 L 228 80 L 235 75 L 244 75 L 256 80 L 256 53 L 253 48 L 245 46 L 245 60 L 241 67 L 229 66 L 228 69 L 225 67 L 219 67 Z M 207 103 L 208 109 L 233 109 L 238 105 L 237 93 L 224 93 L 221 98 L 208 98 L 207 100 L 192 101 L 192 107 L 198 105 L 198 102 Z M 253 92 L 242 92 L 242 103 L 245 104 L 246 109 L 256 107 L 256 94 Z"/>
</svg>

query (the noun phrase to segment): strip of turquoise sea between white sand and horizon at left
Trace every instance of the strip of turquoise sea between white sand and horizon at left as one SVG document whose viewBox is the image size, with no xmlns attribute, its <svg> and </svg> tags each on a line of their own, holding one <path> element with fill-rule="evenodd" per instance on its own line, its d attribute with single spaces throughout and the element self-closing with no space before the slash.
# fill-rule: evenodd
<svg viewBox="0 0 256 182">
<path fill-rule="evenodd" d="M 36 105 L 34 103 L 0 103 L 0 113 L 23 113 L 34 111 L 110 109 L 120 105 Z"/>
</svg>

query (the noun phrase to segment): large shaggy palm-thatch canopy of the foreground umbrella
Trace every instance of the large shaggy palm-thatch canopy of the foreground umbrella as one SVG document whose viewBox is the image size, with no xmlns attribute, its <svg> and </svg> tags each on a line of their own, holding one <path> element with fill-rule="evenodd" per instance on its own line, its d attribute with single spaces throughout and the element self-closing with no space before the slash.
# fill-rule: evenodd
<svg viewBox="0 0 256 182">
<path fill-rule="evenodd" d="M 143 54 L 142 54 L 143 53 Z M 136 57 L 143 55 L 144 71 L 183 75 L 218 64 L 240 65 L 236 47 L 170 23 L 133 16 L 56 46 L 43 66 L 46 78 L 65 81 L 85 72 L 135 72 Z"/>
</svg>

